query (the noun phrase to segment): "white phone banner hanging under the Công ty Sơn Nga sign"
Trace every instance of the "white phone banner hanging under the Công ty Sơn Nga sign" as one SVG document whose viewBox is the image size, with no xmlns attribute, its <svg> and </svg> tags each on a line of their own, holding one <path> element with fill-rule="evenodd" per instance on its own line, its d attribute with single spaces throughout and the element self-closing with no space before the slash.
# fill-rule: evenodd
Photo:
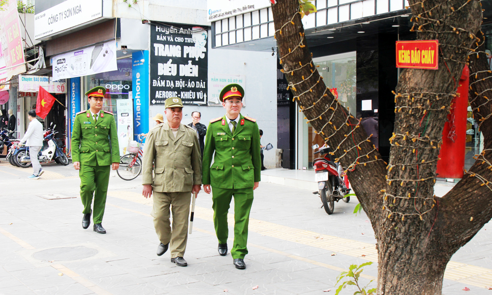
<svg viewBox="0 0 492 295">
<path fill-rule="evenodd" d="M 63 53 L 54 57 L 51 64 L 55 80 L 117 71 L 116 41 Z"/>
</svg>

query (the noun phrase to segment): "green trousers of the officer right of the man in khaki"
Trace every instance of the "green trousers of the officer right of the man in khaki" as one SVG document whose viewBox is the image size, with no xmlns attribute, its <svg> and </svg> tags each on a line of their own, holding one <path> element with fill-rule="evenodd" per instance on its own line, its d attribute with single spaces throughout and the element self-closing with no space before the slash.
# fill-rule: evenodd
<svg viewBox="0 0 492 295">
<path fill-rule="evenodd" d="M 247 254 L 247 227 L 249 211 L 253 203 L 253 188 L 212 187 L 212 208 L 214 209 L 215 234 L 220 244 L 227 243 L 229 228 L 227 213 L 234 196 L 234 245 L 231 249 L 233 259 L 244 259 Z"/>
</svg>

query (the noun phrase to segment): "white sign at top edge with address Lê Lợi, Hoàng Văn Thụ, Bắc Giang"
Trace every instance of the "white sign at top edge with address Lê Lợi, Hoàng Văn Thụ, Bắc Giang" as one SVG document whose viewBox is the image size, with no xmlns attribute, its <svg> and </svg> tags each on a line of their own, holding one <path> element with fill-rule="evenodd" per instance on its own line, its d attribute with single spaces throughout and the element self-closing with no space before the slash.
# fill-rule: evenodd
<svg viewBox="0 0 492 295">
<path fill-rule="evenodd" d="M 270 7 L 268 0 L 207 0 L 207 17 L 215 22 L 231 16 Z"/>
</svg>

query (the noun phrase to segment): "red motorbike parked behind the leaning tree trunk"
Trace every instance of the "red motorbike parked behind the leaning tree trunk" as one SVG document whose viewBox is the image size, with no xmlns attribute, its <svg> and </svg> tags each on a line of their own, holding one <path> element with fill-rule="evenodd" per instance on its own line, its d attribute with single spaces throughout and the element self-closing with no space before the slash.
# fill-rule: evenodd
<svg viewBox="0 0 492 295">
<path fill-rule="evenodd" d="M 312 148 L 318 148 L 318 151 L 315 151 L 314 154 L 319 153 L 322 156 L 322 158 L 317 158 L 313 161 L 314 177 L 316 182 L 318 182 L 318 191 L 313 192 L 313 194 L 319 194 L 326 213 L 332 214 L 335 208 L 335 201 L 343 200 L 345 203 L 350 201 L 350 197 L 345 196 L 350 193 L 348 178 L 346 176 L 345 179 L 340 177 L 341 165 L 333 160 L 333 156 L 330 155 L 332 149 L 329 146 L 325 145 L 319 148 L 318 145 L 314 145 Z"/>
</svg>

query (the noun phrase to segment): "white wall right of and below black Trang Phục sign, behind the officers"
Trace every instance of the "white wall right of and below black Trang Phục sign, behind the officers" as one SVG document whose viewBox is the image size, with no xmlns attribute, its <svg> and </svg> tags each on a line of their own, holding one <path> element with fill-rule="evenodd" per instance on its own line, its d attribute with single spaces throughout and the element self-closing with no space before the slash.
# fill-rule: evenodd
<svg viewBox="0 0 492 295">
<path fill-rule="evenodd" d="M 212 49 L 210 42 L 208 50 L 209 75 L 214 73 L 246 76 L 246 107 L 241 114 L 256 119 L 259 128 L 263 130 L 261 143 L 264 146 L 268 143 L 274 146 L 274 149 L 264 151 L 264 165 L 274 168 L 277 148 L 277 56 L 263 52 Z M 208 96 L 210 97 L 210 93 Z M 152 97 L 150 99 L 152 100 Z M 225 115 L 222 106 L 185 105 L 182 123 L 191 123 L 193 111 L 202 114 L 200 122 L 207 126 L 211 119 Z M 149 107 L 149 126 L 155 125 L 152 117 L 157 113 L 164 114 L 163 105 Z"/>
</svg>

